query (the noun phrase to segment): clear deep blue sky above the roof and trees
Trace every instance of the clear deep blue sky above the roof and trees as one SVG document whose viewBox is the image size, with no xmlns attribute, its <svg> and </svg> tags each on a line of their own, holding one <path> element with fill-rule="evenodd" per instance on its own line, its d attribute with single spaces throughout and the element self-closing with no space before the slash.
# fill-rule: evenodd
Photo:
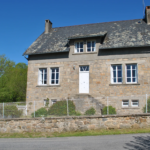
<svg viewBox="0 0 150 150">
<path fill-rule="evenodd" d="M 46 19 L 63 27 L 142 18 L 143 0 L 0 0 L 0 55 L 27 64 L 22 54 L 44 32 Z"/>
</svg>

